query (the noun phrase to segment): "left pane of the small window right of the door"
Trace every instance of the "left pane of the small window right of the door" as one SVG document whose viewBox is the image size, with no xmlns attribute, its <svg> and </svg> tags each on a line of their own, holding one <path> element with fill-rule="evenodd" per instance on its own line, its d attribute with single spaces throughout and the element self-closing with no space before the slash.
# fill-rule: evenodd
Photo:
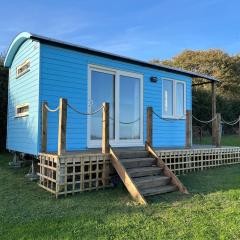
<svg viewBox="0 0 240 240">
<path fill-rule="evenodd" d="M 173 115 L 173 81 L 163 80 L 163 115 Z"/>
</svg>

